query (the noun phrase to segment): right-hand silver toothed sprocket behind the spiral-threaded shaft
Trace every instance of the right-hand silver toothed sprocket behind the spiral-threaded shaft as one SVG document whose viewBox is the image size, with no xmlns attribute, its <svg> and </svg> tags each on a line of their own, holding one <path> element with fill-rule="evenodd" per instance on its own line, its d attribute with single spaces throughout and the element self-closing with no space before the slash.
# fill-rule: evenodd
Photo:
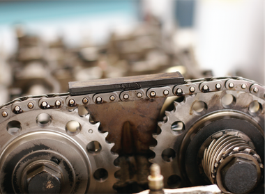
<svg viewBox="0 0 265 194">
<path fill-rule="evenodd" d="M 197 153 L 206 138 L 223 129 L 235 129 L 250 137 L 264 162 L 265 153 L 259 144 L 264 145 L 264 98 L 248 91 L 203 90 L 184 96 L 183 102 L 174 102 L 174 110 L 166 111 L 166 119 L 158 123 L 160 134 L 153 135 L 157 145 L 151 150 L 156 156 L 150 161 L 160 165 L 165 188 L 205 184 Z"/>
</svg>

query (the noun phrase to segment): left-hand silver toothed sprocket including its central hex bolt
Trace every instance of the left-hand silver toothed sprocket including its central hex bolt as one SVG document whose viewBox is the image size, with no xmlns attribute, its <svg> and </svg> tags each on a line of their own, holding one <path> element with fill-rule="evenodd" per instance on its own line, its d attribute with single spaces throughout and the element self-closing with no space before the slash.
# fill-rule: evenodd
<svg viewBox="0 0 265 194">
<path fill-rule="evenodd" d="M 99 125 L 77 108 L 65 107 L 36 109 L 1 122 L 0 193 L 34 193 L 47 174 L 53 179 L 43 185 L 44 193 L 114 193 L 117 155 Z"/>
</svg>

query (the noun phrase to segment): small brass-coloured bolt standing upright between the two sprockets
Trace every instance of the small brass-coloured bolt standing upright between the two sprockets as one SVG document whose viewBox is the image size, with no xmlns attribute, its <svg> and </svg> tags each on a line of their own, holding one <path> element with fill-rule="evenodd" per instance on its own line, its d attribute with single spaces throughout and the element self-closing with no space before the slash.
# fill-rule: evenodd
<svg viewBox="0 0 265 194">
<path fill-rule="evenodd" d="M 150 191 L 162 191 L 164 177 L 160 174 L 160 166 L 157 163 L 151 165 L 150 174 L 147 177 Z"/>
</svg>

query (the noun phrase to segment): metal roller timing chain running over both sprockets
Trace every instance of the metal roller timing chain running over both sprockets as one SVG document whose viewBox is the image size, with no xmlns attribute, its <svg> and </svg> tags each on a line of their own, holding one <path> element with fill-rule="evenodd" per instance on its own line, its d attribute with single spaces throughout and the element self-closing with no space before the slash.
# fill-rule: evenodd
<svg viewBox="0 0 265 194">
<path fill-rule="evenodd" d="M 8 120 L 17 114 L 27 113 L 38 109 L 75 108 L 89 104 L 105 104 L 128 102 L 139 99 L 156 99 L 161 97 L 195 95 L 200 92 L 217 92 L 221 90 L 236 90 L 250 92 L 265 99 L 264 86 L 249 79 L 237 76 L 209 77 L 204 79 L 185 80 L 181 85 L 170 85 L 158 88 L 142 88 L 117 92 L 93 93 L 88 95 L 61 94 L 26 96 L 14 99 L 0 106 L 0 122 Z"/>
</svg>

